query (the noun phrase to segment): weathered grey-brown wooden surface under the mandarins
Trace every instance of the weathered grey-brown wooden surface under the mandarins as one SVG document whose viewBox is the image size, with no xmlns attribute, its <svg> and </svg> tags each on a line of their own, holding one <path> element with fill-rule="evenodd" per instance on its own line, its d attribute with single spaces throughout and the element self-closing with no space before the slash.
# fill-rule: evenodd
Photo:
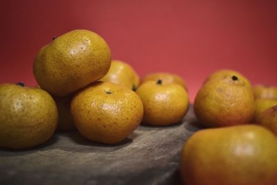
<svg viewBox="0 0 277 185">
<path fill-rule="evenodd" d="M 190 107 L 182 123 L 140 126 L 117 146 L 56 133 L 31 150 L 0 149 L 0 184 L 181 184 L 179 154 L 196 130 Z"/>
</svg>

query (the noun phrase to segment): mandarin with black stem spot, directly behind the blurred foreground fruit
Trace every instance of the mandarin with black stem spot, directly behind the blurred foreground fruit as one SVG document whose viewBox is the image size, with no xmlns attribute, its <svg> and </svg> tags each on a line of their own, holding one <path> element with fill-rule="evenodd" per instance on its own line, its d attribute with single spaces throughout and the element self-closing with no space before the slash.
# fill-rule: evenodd
<svg viewBox="0 0 277 185">
<path fill-rule="evenodd" d="M 206 127 L 238 125 L 251 121 L 255 100 L 242 79 L 227 76 L 204 83 L 195 97 L 194 110 Z"/>
</svg>

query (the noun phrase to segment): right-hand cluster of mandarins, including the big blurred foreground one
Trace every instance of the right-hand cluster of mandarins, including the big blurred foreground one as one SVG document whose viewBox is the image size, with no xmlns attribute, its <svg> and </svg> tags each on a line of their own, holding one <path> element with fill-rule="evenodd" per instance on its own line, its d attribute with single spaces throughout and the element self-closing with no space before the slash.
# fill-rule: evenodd
<svg viewBox="0 0 277 185">
<path fill-rule="evenodd" d="M 210 128 L 196 132 L 184 144 L 180 171 L 186 184 L 277 183 L 277 96 L 273 94 L 273 87 L 252 88 L 236 71 L 216 71 L 206 79 L 194 110 L 199 123 Z"/>
</svg>

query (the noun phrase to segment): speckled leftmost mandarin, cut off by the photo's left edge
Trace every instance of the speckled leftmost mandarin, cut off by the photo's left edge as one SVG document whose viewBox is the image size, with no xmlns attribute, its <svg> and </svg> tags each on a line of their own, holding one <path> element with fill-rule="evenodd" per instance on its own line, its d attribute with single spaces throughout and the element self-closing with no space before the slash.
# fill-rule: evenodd
<svg viewBox="0 0 277 185">
<path fill-rule="evenodd" d="M 46 91 L 15 84 L 0 85 L 0 146 L 23 149 L 51 138 L 57 107 Z"/>
</svg>

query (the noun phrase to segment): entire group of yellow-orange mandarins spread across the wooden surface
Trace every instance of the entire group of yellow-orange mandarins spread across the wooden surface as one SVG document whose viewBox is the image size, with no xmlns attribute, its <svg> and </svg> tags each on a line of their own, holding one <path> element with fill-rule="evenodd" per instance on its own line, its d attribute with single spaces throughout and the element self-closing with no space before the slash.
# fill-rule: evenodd
<svg viewBox="0 0 277 185">
<path fill-rule="evenodd" d="M 181 77 L 151 73 L 140 79 L 129 64 L 111 60 L 105 40 L 89 30 L 53 38 L 37 53 L 33 73 L 35 88 L 0 85 L 1 148 L 31 148 L 56 130 L 115 144 L 141 123 L 173 125 L 188 112 Z M 199 89 L 194 112 L 204 129 L 181 150 L 187 185 L 276 184 L 276 87 L 252 87 L 237 71 L 216 71 Z"/>
</svg>

